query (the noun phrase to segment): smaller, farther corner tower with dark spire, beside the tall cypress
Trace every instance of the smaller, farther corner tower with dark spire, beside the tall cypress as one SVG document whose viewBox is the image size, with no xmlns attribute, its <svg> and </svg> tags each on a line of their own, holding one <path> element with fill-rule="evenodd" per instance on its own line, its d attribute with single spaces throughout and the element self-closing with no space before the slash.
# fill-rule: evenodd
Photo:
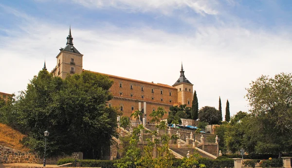
<svg viewBox="0 0 292 168">
<path fill-rule="evenodd" d="M 184 76 L 183 63 L 180 78 L 172 86 L 178 89 L 178 102 L 186 104 L 187 107 L 192 106 L 193 101 L 193 85 Z"/>
</svg>

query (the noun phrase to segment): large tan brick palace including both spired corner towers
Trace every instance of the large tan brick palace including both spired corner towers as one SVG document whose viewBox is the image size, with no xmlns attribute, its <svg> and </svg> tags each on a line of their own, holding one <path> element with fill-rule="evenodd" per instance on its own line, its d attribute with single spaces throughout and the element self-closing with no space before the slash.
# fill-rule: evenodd
<svg viewBox="0 0 292 168">
<path fill-rule="evenodd" d="M 71 28 L 67 36 L 66 46 L 59 50 L 60 52 L 56 56 L 56 67 L 51 72 L 54 76 L 65 79 L 67 75 L 80 74 L 83 71 L 88 71 L 83 69 L 83 54 L 73 46 Z M 44 68 L 46 68 L 45 65 Z M 187 107 L 191 107 L 193 101 L 193 84 L 185 78 L 183 64 L 180 72 L 179 79 L 172 86 L 138 81 L 99 72 L 92 73 L 107 75 L 114 81 L 110 87 L 113 99 L 108 102 L 108 105 L 118 107 L 124 116 L 130 117 L 133 111 L 139 109 L 139 102 L 142 104 L 140 109 L 143 110 L 145 116 L 157 110 L 160 106 L 166 112 L 169 112 L 169 108 L 174 105 L 186 104 Z M 168 113 L 164 118 L 167 118 L 167 116 Z M 149 119 L 147 117 L 147 120 Z M 134 120 L 134 118 L 131 118 L 131 120 Z"/>
</svg>

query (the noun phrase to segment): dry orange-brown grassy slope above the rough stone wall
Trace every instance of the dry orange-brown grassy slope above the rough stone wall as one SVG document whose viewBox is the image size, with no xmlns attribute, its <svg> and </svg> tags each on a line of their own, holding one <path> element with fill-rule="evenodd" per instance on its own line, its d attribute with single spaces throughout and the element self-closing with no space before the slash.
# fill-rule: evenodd
<svg viewBox="0 0 292 168">
<path fill-rule="evenodd" d="M 0 123 L 0 145 L 19 151 L 29 151 L 28 148 L 23 147 L 23 145 L 19 143 L 23 137 L 25 137 L 25 135 L 5 124 Z"/>
</svg>

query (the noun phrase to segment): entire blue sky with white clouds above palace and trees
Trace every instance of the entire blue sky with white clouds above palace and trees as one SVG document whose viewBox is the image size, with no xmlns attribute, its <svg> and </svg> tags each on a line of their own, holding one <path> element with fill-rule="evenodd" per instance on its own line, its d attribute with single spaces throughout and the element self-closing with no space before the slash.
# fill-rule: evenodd
<svg viewBox="0 0 292 168">
<path fill-rule="evenodd" d="M 1 0 L 0 92 L 51 71 L 69 26 L 86 70 L 194 84 L 199 108 L 249 111 L 246 88 L 291 72 L 292 0 Z"/>
</svg>

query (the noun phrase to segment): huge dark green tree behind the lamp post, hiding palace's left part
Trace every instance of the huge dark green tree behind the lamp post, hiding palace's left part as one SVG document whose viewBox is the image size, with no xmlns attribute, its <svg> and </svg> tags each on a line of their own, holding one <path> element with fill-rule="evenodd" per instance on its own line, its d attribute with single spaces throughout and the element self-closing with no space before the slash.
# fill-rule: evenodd
<svg viewBox="0 0 292 168">
<path fill-rule="evenodd" d="M 48 130 L 50 155 L 83 151 L 99 158 L 116 134 L 117 112 L 107 107 L 112 95 L 109 77 L 83 72 L 65 80 L 41 70 L 14 104 L 22 141 L 31 150 L 44 151 L 43 132 Z"/>
</svg>

